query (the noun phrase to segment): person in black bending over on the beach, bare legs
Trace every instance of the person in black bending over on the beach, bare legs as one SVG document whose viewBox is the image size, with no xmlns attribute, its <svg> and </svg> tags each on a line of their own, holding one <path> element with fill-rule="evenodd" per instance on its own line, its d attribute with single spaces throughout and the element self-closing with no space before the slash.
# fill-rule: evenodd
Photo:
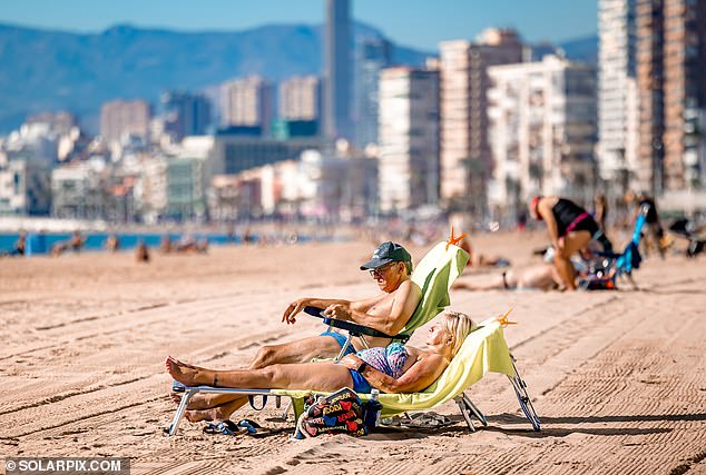
<svg viewBox="0 0 706 475">
<path fill-rule="evenodd" d="M 553 263 L 568 290 L 576 290 L 576 269 L 570 257 L 585 247 L 598 231 L 598 224 L 573 201 L 556 196 L 536 196 L 529 211 L 545 221 L 555 248 Z"/>
</svg>

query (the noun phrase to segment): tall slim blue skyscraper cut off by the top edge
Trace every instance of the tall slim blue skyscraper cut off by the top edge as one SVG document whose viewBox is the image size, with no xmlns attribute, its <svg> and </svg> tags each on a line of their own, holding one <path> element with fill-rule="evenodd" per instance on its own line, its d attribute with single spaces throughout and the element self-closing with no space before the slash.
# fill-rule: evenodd
<svg viewBox="0 0 706 475">
<path fill-rule="evenodd" d="M 352 140 L 351 18 L 349 0 L 326 0 L 324 28 L 324 133 Z"/>
</svg>

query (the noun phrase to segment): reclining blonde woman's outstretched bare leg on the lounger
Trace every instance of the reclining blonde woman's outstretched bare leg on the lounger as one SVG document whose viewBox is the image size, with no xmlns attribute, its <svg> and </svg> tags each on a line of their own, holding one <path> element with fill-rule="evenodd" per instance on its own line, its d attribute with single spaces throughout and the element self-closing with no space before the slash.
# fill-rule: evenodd
<svg viewBox="0 0 706 475">
<path fill-rule="evenodd" d="M 213 370 L 185 365 L 168 357 L 166 365 L 171 377 L 186 386 L 336 390 L 353 384 L 349 370 L 331 362 L 273 365 L 262 369 Z"/>
</svg>

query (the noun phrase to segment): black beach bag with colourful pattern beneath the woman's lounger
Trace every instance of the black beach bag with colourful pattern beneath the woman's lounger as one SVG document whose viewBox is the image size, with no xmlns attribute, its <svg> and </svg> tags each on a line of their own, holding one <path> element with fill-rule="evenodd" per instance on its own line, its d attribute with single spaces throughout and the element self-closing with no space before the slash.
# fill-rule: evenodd
<svg viewBox="0 0 706 475">
<path fill-rule="evenodd" d="M 353 437 L 366 435 L 363 410 L 357 394 L 347 387 L 326 397 L 316 398 L 311 395 L 296 425 L 297 437 L 308 438 L 321 434 L 349 434 Z"/>
</svg>

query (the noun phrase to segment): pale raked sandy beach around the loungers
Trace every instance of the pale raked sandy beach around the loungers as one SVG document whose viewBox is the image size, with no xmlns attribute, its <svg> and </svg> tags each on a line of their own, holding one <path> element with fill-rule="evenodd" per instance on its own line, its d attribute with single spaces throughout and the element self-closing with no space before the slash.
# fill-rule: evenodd
<svg viewBox="0 0 706 475">
<path fill-rule="evenodd" d="M 546 235 L 481 236 L 481 251 L 538 261 Z M 425 247 L 409 247 L 415 259 Z M 127 456 L 133 474 L 698 474 L 706 473 L 706 265 L 649 256 L 639 289 L 454 290 L 475 320 L 514 308 L 506 338 L 542 431 L 522 416 L 504 376 L 468 389 L 489 426 L 454 424 L 363 438 L 292 441 L 204 435 L 175 405 L 164 359 L 246 365 L 264 344 L 314 335 L 281 323 L 305 296 L 356 299 L 376 287 L 359 265 L 371 243 L 213 248 L 135 261 L 131 253 L 0 260 L 0 455 Z M 483 273 L 475 271 L 482 278 Z M 421 340 L 418 331 L 413 343 Z M 282 410 L 243 409 L 267 427 Z M 237 418 L 237 416 L 234 416 Z M 3 469 L 3 468 L 0 468 Z"/>
</svg>

